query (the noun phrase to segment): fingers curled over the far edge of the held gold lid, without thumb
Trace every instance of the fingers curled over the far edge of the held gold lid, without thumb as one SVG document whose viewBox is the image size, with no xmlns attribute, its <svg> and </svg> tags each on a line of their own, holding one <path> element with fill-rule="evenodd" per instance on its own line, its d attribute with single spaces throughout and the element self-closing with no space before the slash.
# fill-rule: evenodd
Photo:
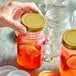
<svg viewBox="0 0 76 76">
<path fill-rule="evenodd" d="M 24 13 L 26 13 L 26 12 L 28 13 L 30 11 L 33 13 L 38 13 L 38 14 L 42 15 L 40 9 L 33 2 L 19 3 L 19 4 L 17 2 L 14 2 L 12 4 L 14 4 L 16 7 L 16 9 L 15 9 L 16 12 L 15 12 L 14 17 L 13 17 L 15 20 L 19 19 Z"/>
</svg>

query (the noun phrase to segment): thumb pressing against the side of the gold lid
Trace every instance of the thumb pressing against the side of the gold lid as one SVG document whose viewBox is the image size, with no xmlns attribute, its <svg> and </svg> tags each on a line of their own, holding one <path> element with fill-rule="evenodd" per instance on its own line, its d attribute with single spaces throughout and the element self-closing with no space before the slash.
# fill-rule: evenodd
<svg viewBox="0 0 76 76">
<path fill-rule="evenodd" d="M 26 27 L 13 19 L 9 21 L 9 24 L 10 28 L 14 29 L 15 31 L 18 31 L 21 35 L 26 32 Z"/>
</svg>

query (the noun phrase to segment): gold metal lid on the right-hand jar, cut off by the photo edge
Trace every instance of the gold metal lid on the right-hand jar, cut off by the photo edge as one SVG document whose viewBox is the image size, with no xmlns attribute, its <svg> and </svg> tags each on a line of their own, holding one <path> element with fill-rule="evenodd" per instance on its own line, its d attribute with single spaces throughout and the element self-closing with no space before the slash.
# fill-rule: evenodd
<svg viewBox="0 0 76 76">
<path fill-rule="evenodd" d="M 69 49 L 76 50 L 76 30 L 68 30 L 64 33 L 62 43 Z"/>
</svg>

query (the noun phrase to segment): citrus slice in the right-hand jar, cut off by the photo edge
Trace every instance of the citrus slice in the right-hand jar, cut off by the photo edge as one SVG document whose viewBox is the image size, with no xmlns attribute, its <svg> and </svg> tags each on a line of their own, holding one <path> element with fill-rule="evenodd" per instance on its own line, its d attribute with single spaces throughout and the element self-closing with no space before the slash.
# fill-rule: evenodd
<svg viewBox="0 0 76 76">
<path fill-rule="evenodd" d="M 68 58 L 67 65 L 72 69 L 76 69 L 76 55 L 72 55 Z"/>
</svg>

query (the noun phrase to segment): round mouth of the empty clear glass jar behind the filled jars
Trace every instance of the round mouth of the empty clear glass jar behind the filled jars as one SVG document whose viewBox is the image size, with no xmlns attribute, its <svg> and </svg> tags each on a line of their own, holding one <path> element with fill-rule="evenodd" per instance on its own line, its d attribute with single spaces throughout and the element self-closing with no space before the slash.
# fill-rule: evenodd
<svg viewBox="0 0 76 76">
<path fill-rule="evenodd" d="M 47 21 L 51 24 L 63 24 L 64 22 L 68 22 L 69 13 L 63 10 L 48 10 L 45 15 Z"/>
</svg>

